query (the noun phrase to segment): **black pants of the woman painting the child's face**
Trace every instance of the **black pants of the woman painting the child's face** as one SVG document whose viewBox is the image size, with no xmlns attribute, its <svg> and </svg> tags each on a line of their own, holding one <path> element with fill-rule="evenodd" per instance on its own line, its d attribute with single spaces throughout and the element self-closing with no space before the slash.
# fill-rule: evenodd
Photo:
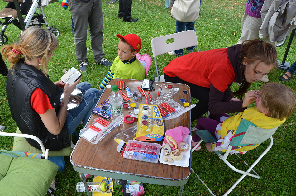
<svg viewBox="0 0 296 196">
<path fill-rule="evenodd" d="M 171 78 L 166 74 L 164 74 L 164 79 L 166 82 L 187 84 L 190 87 L 191 97 L 196 98 L 199 101 L 196 103 L 196 106 L 191 109 L 191 121 L 198 119 L 203 116 L 203 114 L 208 112 L 210 88 L 186 82 L 178 77 Z"/>
</svg>

